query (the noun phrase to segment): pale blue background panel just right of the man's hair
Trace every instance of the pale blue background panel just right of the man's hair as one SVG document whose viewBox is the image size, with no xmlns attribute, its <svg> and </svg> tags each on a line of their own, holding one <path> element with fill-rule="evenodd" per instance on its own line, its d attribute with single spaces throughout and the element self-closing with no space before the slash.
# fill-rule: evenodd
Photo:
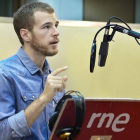
<svg viewBox="0 0 140 140">
<path fill-rule="evenodd" d="M 38 0 L 50 4 L 59 20 L 83 20 L 83 0 Z"/>
</svg>

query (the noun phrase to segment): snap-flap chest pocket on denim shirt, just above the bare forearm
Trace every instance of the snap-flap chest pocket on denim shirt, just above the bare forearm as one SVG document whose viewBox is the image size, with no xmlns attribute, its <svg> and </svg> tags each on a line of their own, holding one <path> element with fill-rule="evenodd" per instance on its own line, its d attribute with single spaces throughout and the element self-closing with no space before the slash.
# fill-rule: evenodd
<svg viewBox="0 0 140 140">
<path fill-rule="evenodd" d="M 21 92 L 23 106 L 26 108 L 39 97 L 39 92 Z"/>
</svg>

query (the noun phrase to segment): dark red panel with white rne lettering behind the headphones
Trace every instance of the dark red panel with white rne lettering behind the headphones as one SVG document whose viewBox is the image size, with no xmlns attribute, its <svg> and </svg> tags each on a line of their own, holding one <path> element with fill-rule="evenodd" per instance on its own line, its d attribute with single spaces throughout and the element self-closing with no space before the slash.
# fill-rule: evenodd
<svg viewBox="0 0 140 140">
<path fill-rule="evenodd" d="M 74 109 L 74 102 L 69 100 L 60 113 L 50 140 L 60 140 L 56 132 L 74 126 Z M 140 139 L 140 100 L 86 99 L 83 125 L 73 140 L 97 140 L 98 137 L 104 140 Z"/>
</svg>

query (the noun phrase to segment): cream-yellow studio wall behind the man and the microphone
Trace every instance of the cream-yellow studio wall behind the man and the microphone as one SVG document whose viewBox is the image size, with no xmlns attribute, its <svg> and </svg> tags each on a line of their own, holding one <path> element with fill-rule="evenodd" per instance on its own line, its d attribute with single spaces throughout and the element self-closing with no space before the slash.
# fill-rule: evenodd
<svg viewBox="0 0 140 140">
<path fill-rule="evenodd" d="M 98 52 L 104 31 L 97 37 L 94 73 L 89 72 L 91 44 L 102 22 L 60 21 L 59 53 L 48 57 L 53 70 L 68 66 L 68 90 L 78 90 L 92 98 L 140 98 L 140 46 L 134 38 L 116 33 L 109 43 L 105 67 L 98 67 Z M 130 25 L 140 32 L 140 25 Z M 11 22 L 0 23 L 0 60 L 17 52 L 21 46 Z"/>
</svg>

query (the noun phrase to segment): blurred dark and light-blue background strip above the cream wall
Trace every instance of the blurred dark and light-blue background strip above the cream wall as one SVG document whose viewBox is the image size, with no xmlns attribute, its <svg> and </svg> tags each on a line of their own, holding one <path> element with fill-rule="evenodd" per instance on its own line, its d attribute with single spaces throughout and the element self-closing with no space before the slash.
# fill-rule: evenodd
<svg viewBox="0 0 140 140">
<path fill-rule="evenodd" d="M 46 2 L 59 20 L 107 21 L 112 15 L 128 23 L 140 23 L 140 0 L 0 0 L 0 16 L 13 17 L 29 2 Z"/>
</svg>

